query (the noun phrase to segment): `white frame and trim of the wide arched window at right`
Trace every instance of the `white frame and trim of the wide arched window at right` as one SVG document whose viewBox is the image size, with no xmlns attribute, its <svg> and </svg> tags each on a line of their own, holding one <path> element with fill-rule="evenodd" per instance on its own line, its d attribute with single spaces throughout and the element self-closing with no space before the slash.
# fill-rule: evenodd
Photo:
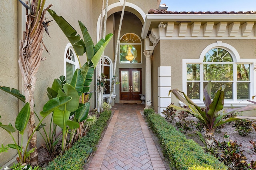
<svg viewBox="0 0 256 170">
<path fill-rule="evenodd" d="M 232 47 L 231 45 L 227 44 L 227 43 L 222 43 L 222 41 L 217 41 L 216 43 L 212 43 L 210 45 L 208 45 L 200 54 L 200 58 L 199 59 L 182 59 L 182 91 L 187 94 L 187 64 L 200 64 L 200 80 L 196 80 L 193 82 L 200 82 L 200 99 L 193 99 L 192 101 L 197 104 L 198 106 L 204 106 L 204 102 L 203 102 L 203 88 L 204 88 L 204 82 L 208 82 L 208 81 L 204 81 L 203 80 L 203 64 L 205 64 L 206 62 L 203 62 L 204 60 L 204 56 L 205 54 L 210 51 L 211 49 L 214 48 L 220 48 L 220 49 L 224 49 L 226 51 L 228 51 L 233 59 L 233 66 L 234 66 L 234 70 L 236 70 L 236 66 L 237 64 L 250 64 L 250 90 L 249 90 L 249 98 L 250 100 L 252 100 L 252 96 L 254 96 L 254 92 L 255 87 L 255 80 L 256 80 L 256 74 L 254 73 L 254 64 L 256 63 L 256 59 L 240 59 L 240 55 L 238 53 L 238 51 L 236 51 L 236 49 L 234 47 Z M 213 64 L 214 62 L 212 62 L 211 64 Z M 229 63 L 229 62 L 226 62 Z M 238 80 L 236 78 L 236 71 L 233 72 L 233 83 L 237 83 Z M 213 81 L 214 82 L 214 81 Z M 233 99 L 225 99 L 224 100 L 224 107 L 241 107 L 241 106 L 246 106 L 248 104 L 251 104 L 250 102 L 248 102 L 247 100 L 237 100 L 237 94 L 236 94 L 236 86 L 233 86 Z M 180 105 L 182 106 L 182 102 L 180 102 Z"/>
</svg>

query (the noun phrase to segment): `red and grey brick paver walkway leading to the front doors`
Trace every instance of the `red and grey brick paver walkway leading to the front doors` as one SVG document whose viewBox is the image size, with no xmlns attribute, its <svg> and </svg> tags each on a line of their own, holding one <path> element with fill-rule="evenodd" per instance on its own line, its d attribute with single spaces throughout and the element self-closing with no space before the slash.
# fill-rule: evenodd
<svg viewBox="0 0 256 170">
<path fill-rule="evenodd" d="M 116 104 L 88 170 L 165 170 L 140 104 Z"/>
</svg>

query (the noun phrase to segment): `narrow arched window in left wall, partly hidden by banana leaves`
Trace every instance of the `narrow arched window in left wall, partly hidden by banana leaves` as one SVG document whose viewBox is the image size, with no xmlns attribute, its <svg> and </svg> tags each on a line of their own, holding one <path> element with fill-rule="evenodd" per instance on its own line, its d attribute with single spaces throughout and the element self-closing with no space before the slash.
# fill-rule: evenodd
<svg viewBox="0 0 256 170">
<path fill-rule="evenodd" d="M 78 58 L 71 43 L 68 43 L 64 54 L 64 76 L 68 83 L 71 82 L 73 74 L 77 68 L 79 68 Z"/>
</svg>

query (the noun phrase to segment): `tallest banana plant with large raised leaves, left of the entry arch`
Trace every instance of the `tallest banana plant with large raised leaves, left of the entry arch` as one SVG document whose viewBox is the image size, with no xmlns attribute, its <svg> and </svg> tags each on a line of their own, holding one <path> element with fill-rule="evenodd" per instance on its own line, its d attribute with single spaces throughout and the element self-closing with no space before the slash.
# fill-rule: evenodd
<svg viewBox="0 0 256 170">
<path fill-rule="evenodd" d="M 66 35 L 66 37 L 72 44 L 72 47 L 74 48 L 76 56 L 78 56 L 80 69 L 78 69 L 74 73 L 76 79 L 71 82 L 71 85 L 76 88 L 79 95 L 83 93 L 88 93 L 90 90 L 89 85 L 92 82 L 94 69 L 96 68 L 97 63 L 100 60 L 100 57 L 104 52 L 104 49 L 108 45 L 109 41 L 111 40 L 113 34 L 110 33 L 106 35 L 105 38 L 100 39 L 100 41 L 98 41 L 98 43 L 96 43 L 96 45 L 94 46 L 94 43 L 90 34 L 88 33 L 87 28 L 81 21 L 78 21 L 78 23 L 82 31 L 83 39 L 74 29 L 74 27 L 72 27 L 70 23 L 68 23 L 68 21 L 66 21 L 62 16 L 58 16 L 53 10 L 48 9 L 47 11 L 59 25 L 62 32 Z M 84 55 L 84 53 L 86 53 L 87 61 L 86 63 L 81 65 L 79 58 L 80 56 Z M 86 97 L 88 98 L 88 96 L 82 95 L 83 104 L 86 103 Z"/>
</svg>

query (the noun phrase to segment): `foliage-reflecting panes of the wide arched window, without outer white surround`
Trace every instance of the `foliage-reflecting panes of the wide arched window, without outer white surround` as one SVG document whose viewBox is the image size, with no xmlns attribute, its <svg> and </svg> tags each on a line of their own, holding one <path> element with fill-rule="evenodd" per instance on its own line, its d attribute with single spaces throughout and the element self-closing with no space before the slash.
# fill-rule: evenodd
<svg viewBox="0 0 256 170">
<path fill-rule="evenodd" d="M 189 98 L 202 100 L 200 94 L 209 80 L 212 81 L 212 98 L 216 90 L 224 84 L 225 99 L 250 98 L 250 64 L 234 63 L 232 56 L 225 49 L 211 49 L 205 54 L 203 63 L 187 63 L 186 66 Z"/>
</svg>

